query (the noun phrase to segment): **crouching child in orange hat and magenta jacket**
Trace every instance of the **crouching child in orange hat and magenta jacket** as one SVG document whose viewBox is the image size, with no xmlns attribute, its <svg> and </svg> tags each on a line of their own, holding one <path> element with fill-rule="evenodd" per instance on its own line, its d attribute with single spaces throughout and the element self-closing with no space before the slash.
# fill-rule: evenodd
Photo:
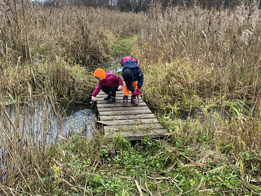
<svg viewBox="0 0 261 196">
<path fill-rule="evenodd" d="M 92 100 L 96 101 L 97 94 L 102 90 L 107 94 L 107 97 L 104 97 L 107 103 L 115 102 L 116 91 L 122 90 L 122 78 L 114 73 L 105 73 L 105 71 L 100 68 L 95 70 L 94 77 L 99 80 L 99 84 L 93 91 Z"/>
</svg>

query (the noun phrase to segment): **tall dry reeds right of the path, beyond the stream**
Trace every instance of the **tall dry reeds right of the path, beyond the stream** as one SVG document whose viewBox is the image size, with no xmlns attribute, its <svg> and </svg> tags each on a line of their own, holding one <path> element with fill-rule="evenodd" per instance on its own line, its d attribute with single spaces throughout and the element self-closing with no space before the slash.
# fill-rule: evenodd
<svg viewBox="0 0 261 196">
<path fill-rule="evenodd" d="M 155 105 L 157 95 L 185 107 L 202 104 L 187 103 L 196 96 L 219 104 L 227 99 L 255 103 L 261 82 L 260 18 L 256 2 L 219 10 L 150 9 L 136 50 L 145 89 L 152 87 L 145 95 L 148 102 Z"/>
</svg>

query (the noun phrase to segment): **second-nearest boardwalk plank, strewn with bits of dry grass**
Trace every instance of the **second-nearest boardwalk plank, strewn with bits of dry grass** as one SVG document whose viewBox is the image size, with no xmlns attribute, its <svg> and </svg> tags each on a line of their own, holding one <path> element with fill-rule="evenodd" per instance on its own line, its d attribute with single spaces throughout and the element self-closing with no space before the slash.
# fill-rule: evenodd
<svg viewBox="0 0 261 196">
<path fill-rule="evenodd" d="M 164 129 L 160 123 L 155 124 L 134 124 L 134 125 L 113 125 L 113 126 L 105 126 L 104 131 L 110 132 L 110 131 L 130 131 L 134 130 L 136 132 L 139 132 L 141 130 L 154 130 L 154 129 Z"/>
</svg>

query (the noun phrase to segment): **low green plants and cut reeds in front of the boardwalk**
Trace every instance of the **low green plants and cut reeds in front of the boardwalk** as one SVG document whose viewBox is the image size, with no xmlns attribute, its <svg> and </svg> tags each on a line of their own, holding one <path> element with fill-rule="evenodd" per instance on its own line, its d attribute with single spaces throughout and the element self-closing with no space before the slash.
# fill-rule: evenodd
<svg viewBox="0 0 261 196">
<path fill-rule="evenodd" d="M 214 154 L 211 146 L 184 146 L 183 139 L 171 138 L 167 142 L 145 138 L 131 146 L 126 139 L 115 138 L 114 145 L 118 150 L 116 157 L 112 158 L 105 141 L 90 143 L 84 136 L 73 136 L 70 141 L 57 146 L 53 159 L 59 164 L 51 161 L 48 176 L 39 177 L 30 185 L 32 189 L 42 187 L 38 194 L 48 191 L 51 195 L 106 193 L 127 196 L 137 195 L 137 180 L 145 190 L 147 184 L 153 195 L 178 195 L 181 190 L 183 193 L 189 191 L 186 195 L 248 195 L 239 181 L 240 165 L 229 165 L 228 159 Z M 189 163 L 189 159 L 195 160 L 198 154 L 202 154 L 208 162 Z M 214 155 L 220 157 L 211 160 Z M 261 190 L 247 182 L 244 184 L 255 193 Z M 27 188 L 24 187 L 24 190 L 27 191 Z M 149 195 L 144 190 L 142 193 Z"/>
</svg>

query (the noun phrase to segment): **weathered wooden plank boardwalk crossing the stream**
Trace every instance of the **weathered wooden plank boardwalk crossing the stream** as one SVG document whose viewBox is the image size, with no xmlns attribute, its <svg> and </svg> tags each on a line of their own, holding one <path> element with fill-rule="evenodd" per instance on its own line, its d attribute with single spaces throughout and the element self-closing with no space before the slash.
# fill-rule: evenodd
<svg viewBox="0 0 261 196">
<path fill-rule="evenodd" d="M 106 139 L 121 135 L 127 140 L 140 140 L 144 136 L 155 138 L 169 134 L 169 131 L 162 127 L 142 98 L 139 98 L 140 106 L 134 106 L 131 104 L 131 93 L 129 93 L 128 107 L 123 107 L 123 94 L 119 91 L 116 92 L 116 102 L 114 103 L 107 103 L 103 99 L 106 96 L 102 91 L 96 96 L 99 114 L 97 123 L 103 125 Z"/>
</svg>

